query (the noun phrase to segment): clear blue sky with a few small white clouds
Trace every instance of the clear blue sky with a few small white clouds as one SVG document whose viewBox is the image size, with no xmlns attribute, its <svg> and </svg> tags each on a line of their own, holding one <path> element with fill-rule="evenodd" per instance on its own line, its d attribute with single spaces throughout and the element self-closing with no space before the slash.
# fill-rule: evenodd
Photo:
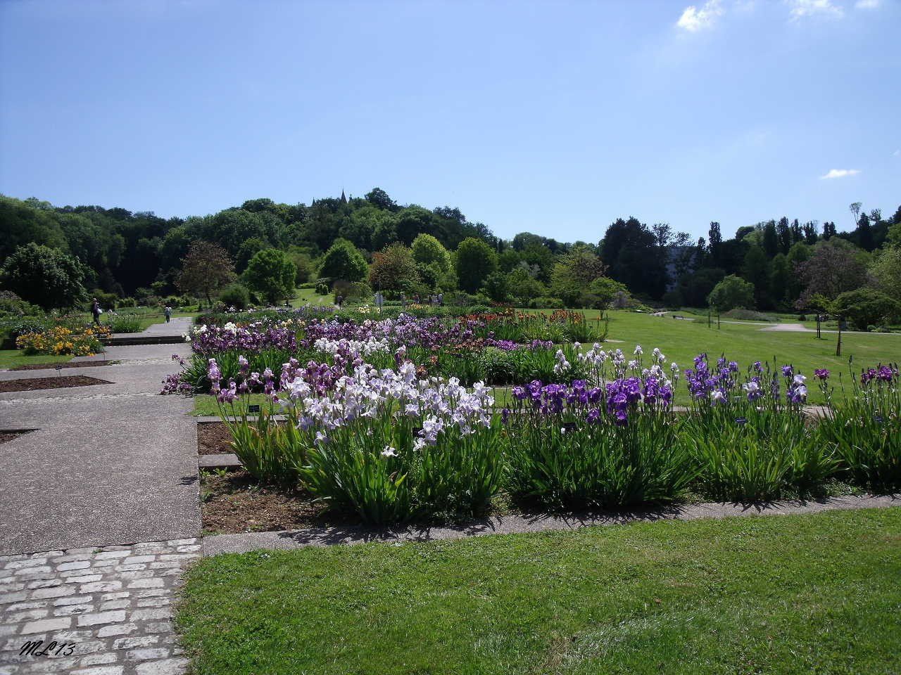
<svg viewBox="0 0 901 675">
<path fill-rule="evenodd" d="M 0 192 L 848 229 L 901 203 L 899 29 L 898 0 L 2 2 Z"/>
</svg>

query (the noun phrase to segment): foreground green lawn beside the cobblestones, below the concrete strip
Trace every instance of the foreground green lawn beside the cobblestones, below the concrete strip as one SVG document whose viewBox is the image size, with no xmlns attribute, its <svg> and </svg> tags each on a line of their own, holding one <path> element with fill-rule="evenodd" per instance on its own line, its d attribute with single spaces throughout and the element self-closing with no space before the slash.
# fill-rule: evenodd
<svg viewBox="0 0 901 675">
<path fill-rule="evenodd" d="M 897 673 L 901 509 L 220 555 L 198 675 Z"/>
</svg>

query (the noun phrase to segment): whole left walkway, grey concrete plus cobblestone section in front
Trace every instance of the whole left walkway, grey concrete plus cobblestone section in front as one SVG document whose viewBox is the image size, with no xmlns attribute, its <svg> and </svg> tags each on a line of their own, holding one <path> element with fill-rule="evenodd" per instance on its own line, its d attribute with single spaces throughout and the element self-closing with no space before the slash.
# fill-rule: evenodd
<svg viewBox="0 0 901 675">
<path fill-rule="evenodd" d="M 187 330 L 176 321 L 151 329 Z M 188 353 L 107 347 L 86 360 L 118 364 L 74 372 L 110 384 L 0 394 L 0 429 L 36 429 L 0 445 L 0 675 L 184 671 L 168 618 L 199 555 L 196 422 L 159 389 Z M 20 654 L 35 639 L 74 646 Z"/>
</svg>

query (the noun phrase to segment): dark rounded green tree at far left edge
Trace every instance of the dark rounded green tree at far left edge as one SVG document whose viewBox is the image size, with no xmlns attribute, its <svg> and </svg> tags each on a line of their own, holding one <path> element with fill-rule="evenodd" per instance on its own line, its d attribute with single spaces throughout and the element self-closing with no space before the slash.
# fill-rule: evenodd
<svg viewBox="0 0 901 675">
<path fill-rule="evenodd" d="M 44 310 L 85 299 L 85 266 L 77 257 L 33 241 L 17 247 L 0 268 L 0 286 Z"/>
</svg>

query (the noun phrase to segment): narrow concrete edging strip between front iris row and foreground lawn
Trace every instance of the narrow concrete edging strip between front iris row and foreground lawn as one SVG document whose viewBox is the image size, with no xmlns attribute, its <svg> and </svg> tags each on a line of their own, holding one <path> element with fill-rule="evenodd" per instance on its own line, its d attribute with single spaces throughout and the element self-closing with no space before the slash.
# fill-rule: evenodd
<svg viewBox="0 0 901 675">
<path fill-rule="evenodd" d="M 460 526 L 444 527 L 308 527 L 281 532 L 250 532 L 240 535 L 205 536 L 204 555 L 246 553 L 256 549 L 292 549 L 304 546 L 365 544 L 368 542 L 423 542 L 460 539 L 465 536 L 508 535 L 518 532 L 574 530 L 579 527 L 626 525 L 655 520 L 696 520 L 731 516 L 768 516 L 818 513 L 836 509 L 901 507 L 901 495 L 834 497 L 827 500 L 779 501 L 742 506 L 728 502 L 688 504 L 653 511 L 536 516 L 514 515 L 474 520 Z"/>
</svg>

